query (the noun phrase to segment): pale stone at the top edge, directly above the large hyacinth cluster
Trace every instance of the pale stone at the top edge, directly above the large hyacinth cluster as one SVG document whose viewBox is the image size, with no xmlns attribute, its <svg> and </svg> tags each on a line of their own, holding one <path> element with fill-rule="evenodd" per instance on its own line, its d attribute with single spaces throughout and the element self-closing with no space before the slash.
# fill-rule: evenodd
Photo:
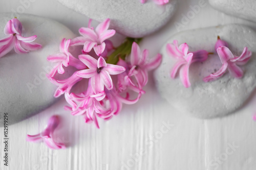
<svg viewBox="0 0 256 170">
<path fill-rule="evenodd" d="M 166 5 L 156 5 L 149 0 L 57 0 L 89 18 L 103 21 L 111 19 L 110 27 L 128 37 L 144 37 L 163 27 L 173 16 L 177 0 Z M 87 26 L 87 23 L 84 23 Z"/>
</svg>

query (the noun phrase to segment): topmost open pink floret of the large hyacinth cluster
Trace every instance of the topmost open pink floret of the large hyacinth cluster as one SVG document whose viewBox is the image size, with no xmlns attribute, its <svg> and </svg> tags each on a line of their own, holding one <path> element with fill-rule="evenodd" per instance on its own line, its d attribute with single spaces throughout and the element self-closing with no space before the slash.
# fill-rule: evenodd
<svg viewBox="0 0 256 170">
<path fill-rule="evenodd" d="M 71 40 L 71 45 L 83 45 L 83 51 L 89 53 L 92 48 L 97 56 L 100 56 L 105 50 L 105 40 L 115 35 L 115 30 L 108 30 L 110 26 L 110 19 L 107 18 L 99 23 L 95 31 L 90 26 L 89 28 L 80 28 L 79 33 L 82 35 Z"/>
</svg>

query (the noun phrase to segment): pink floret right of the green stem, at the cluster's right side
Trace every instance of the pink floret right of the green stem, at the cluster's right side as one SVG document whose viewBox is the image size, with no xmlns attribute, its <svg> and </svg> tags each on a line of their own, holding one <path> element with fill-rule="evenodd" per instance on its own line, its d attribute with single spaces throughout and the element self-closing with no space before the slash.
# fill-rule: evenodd
<svg viewBox="0 0 256 170">
<path fill-rule="evenodd" d="M 162 56 L 160 54 L 157 54 L 157 56 L 152 59 L 148 59 L 148 50 L 145 49 L 141 53 L 139 45 L 136 42 L 133 42 L 131 51 L 132 68 L 130 69 L 128 76 L 134 76 L 139 88 L 142 89 L 148 81 L 147 72 L 157 68 L 161 61 Z"/>
</svg>

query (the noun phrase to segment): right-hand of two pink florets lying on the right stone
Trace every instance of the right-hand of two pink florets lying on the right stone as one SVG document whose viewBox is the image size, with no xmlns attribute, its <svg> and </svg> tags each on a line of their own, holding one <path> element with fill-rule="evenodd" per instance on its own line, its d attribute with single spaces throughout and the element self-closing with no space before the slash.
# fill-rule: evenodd
<svg viewBox="0 0 256 170">
<path fill-rule="evenodd" d="M 217 53 L 220 57 L 222 66 L 221 68 L 211 74 L 210 76 L 205 77 L 204 82 L 209 82 L 212 80 L 219 79 L 225 74 L 225 71 L 228 69 L 231 76 L 234 78 L 242 78 L 243 70 L 238 65 L 244 65 L 248 62 L 251 57 L 251 51 L 248 51 L 247 47 L 244 47 L 243 53 L 240 56 L 234 56 L 232 52 L 226 46 L 220 46 L 217 48 Z"/>
</svg>

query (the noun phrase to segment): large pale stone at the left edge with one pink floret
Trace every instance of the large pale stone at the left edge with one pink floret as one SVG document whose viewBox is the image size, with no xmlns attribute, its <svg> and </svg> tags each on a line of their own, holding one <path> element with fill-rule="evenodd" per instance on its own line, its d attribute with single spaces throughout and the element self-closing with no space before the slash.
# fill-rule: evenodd
<svg viewBox="0 0 256 170">
<path fill-rule="evenodd" d="M 0 58 L 0 126 L 4 126 L 4 113 L 8 113 L 8 125 L 23 120 L 52 105 L 56 86 L 47 78 L 52 68 L 47 61 L 50 54 L 59 53 L 62 38 L 75 35 L 59 22 L 28 14 L 0 14 L 0 38 L 6 37 L 4 27 L 8 20 L 17 18 L 25 28 L 24 36 L 37 35 L 34 42 L 42 48 L 27 54 L 14 50 Z"/>
</svg>

